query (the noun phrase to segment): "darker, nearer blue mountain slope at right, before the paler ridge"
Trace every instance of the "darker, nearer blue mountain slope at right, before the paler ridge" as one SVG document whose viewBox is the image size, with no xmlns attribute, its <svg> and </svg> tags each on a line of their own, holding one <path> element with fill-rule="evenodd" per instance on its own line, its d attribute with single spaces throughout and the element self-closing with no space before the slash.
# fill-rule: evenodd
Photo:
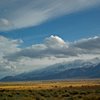
<svg viewBox="0 0 100 100">
<path fill-rule="evenodd" d="M 100 78 L 100 64 L 91 67 L 82 67 L 65 70 L 52 76 L 50 79 L 69 79 L 69 78 Z"/>
</svg>

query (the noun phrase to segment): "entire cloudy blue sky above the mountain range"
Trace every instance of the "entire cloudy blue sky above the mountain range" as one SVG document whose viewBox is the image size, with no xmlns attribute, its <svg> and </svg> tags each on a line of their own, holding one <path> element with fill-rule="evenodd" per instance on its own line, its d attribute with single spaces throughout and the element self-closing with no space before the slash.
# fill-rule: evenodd
<svg viewBox="0 0 100 100">
<path fill-rule="evenodd" d="M 0 0 L 0 78 L 100 58 L 100 0 Z"/>
</svg>

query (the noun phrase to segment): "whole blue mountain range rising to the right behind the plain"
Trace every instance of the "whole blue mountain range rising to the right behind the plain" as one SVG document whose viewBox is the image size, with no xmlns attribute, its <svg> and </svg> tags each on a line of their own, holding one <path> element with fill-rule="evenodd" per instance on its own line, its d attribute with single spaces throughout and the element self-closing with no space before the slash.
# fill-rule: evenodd
<svg viewBox="0 0 100 100">
<path fill-rule="evenodd" d="M 59 63 L 16 76 L 7 76 L 1 81 L 32 81 L 52 79 L 100 78 L 100 63 L 74 61 Z"/>
</svg>

